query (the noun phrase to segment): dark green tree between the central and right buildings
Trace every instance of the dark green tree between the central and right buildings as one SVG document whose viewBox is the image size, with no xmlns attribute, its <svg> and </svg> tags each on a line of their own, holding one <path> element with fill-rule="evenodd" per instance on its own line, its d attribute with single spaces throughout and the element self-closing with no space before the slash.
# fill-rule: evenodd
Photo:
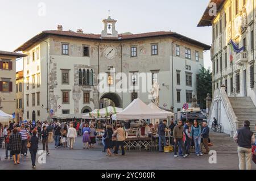
<svg viewBox="0 0 256 181">
<path fill-rule="evenodd" d="M 200 69 L 199 77 L 197 79 L 197 101 L 201 109 L 206 108 L 205 98 L 209 93 L 212 96 L 212 73 L 210 69 L 205 69 L 203 66 Z"/>
</svg>

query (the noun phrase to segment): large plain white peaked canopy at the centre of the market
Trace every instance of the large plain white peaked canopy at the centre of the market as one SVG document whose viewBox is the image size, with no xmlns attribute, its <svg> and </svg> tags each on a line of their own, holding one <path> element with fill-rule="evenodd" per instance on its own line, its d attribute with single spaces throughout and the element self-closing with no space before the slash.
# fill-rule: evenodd
<svg viewBox="0 0 256 181">
<path fill-rule="evenodd" d="M 142 102 L 141 99 L 134 99 L 123 111 L 112 116 L 113 120 L 132 119 L 166 119 L 173 113 L 163 110 L 153 109 Z"/>
</svg>

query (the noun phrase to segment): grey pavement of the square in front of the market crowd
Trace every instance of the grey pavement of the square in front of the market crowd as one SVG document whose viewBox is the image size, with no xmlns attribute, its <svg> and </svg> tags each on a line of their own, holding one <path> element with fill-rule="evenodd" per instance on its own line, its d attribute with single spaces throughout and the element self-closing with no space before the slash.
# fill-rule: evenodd
<svg viewBox="0 0 256 181">
<path fill-rule="evenodd" d="M 156 151 L 126 151 L 125 156 L 117 155 L 106 157 L 102 153 L 102 146 L 96 145 L 94 149 L 82 149 L 82 138 L 78 137 L 73 150 L 54 148 L 49 145 L 49 156 L 45 164 L 36 163 L 36 169 L 238 169 L 237 145 L 233 138 L 223 133 L 210 133 L 213 142 L 211 150 L 217 151 L 217 163 L 209 163 L 210 155 L 196 157 L 191 153 L 188 158 L 174 158 L 174 153 L 158 153 Z M 42 144 L 39 144 L 42 149 Z M 20 165 L 14 165 L 10 159 L 4 159 L 5 150 L 0 150 L 2 169 L 32 169 L 30 153 L 20 159 Z M 38 155 L 39 156 L 39 155 Z M 37 157 L 38 157 L 37 156 Z M 252 163 L 252 169 L 256 169 Z"/>
</svg>

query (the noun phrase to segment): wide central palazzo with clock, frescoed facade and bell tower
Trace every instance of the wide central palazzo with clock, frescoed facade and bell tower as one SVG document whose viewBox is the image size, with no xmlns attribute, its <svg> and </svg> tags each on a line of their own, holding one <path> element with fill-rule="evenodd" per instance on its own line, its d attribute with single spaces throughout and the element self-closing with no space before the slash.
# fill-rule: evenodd
<svg viewBox="0 0 256 181">
<path fill-rule="evenodd" d="M 116 22 L 110 17 L 104 19 L 105 28 L 100 35 L 63 31 L 58 26 L 58 30 L 43 31 L 16 49 L 30 55 L 23 60 L 24 77 L 28 79 L 25 85 L 31 86 L 33 76 L 39 75 L 39 87 L 24 89 L 24 98 L 28 97 L 28 104 L 24 104 L 27 119 L 34 119 L 31 111 L 36 110 L 40 111 L 36 120 L 47 119 L 47 107 L 52 115 L 60 115 L 109 105 L 125 108 L 137 97 L 150 103 L 148 91 L 134 89 L 139 73 L 150 74 L 150 87 L 152 81 L 158 81 L 160 107 L 174 107 L 177 112 L 183 103 L 191 102 L 192 94 L 196 95 L 197 74 L 204 64 L 203 51 L 210 47 L 176 32 L 118 34 Z M 131 75 L 135 82 L 127 82 L 130 92 L 111 88 L 99 92 L 98 73 L 106 73 L 110 87 L 120 82 L 118 73 Z M 40 104 L 32 106 L 31 96 L 36 92 L 40 92 Z"/>
</svg>

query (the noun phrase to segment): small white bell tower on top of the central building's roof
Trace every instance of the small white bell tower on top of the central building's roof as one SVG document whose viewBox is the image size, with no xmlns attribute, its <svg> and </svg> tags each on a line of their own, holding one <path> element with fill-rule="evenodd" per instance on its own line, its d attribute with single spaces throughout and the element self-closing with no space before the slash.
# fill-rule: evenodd
<svg viewBox="0 0 256 181">
<path fill-rule="evenodd" d="M 101 37 L 116 37 L 118 38 L 118 32 L 115 30 L 115 23 L 117 20 L 114 20 L 110 17 L 108 19 L 102 20 L 104 23 L 104 30 L 101 32 Z"/>
</svg>

